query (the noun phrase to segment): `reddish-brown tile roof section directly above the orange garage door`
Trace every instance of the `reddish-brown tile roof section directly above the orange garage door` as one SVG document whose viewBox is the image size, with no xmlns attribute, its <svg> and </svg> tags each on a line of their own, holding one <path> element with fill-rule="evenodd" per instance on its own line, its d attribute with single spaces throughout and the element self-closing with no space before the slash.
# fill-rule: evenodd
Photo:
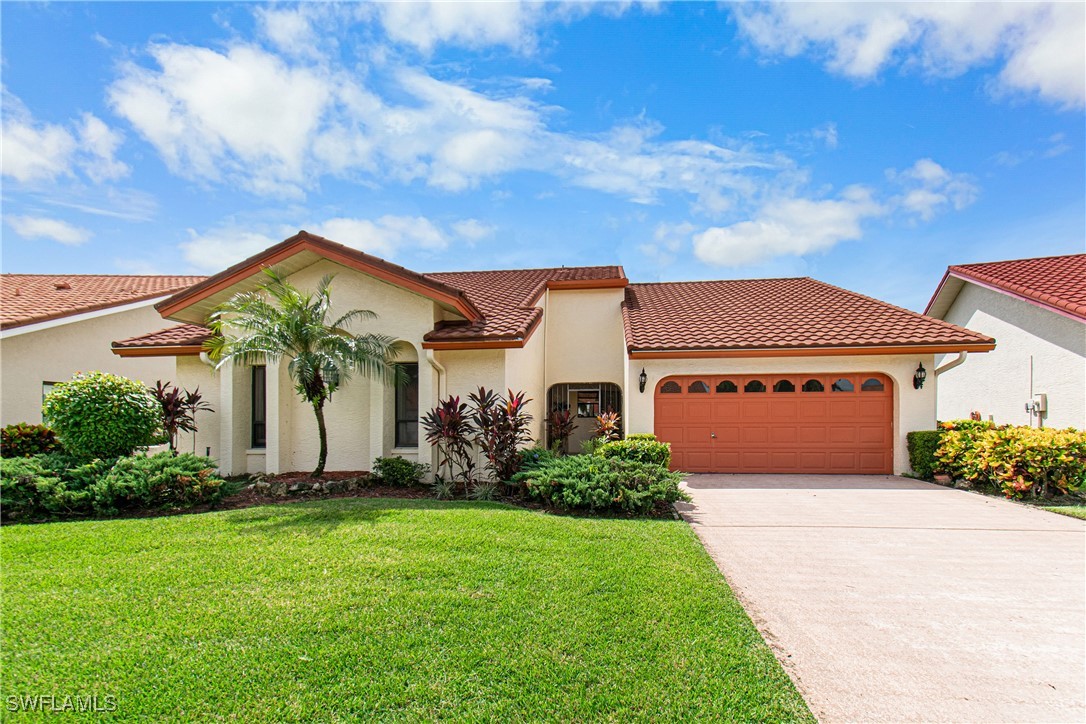
<svg viewBox="0 0 1086 724">
<path fill-rule="evenodd" d="M 990 338 L 809 278 L 630 284 L 630 350 L 986 345 Z"/>
</svg>

